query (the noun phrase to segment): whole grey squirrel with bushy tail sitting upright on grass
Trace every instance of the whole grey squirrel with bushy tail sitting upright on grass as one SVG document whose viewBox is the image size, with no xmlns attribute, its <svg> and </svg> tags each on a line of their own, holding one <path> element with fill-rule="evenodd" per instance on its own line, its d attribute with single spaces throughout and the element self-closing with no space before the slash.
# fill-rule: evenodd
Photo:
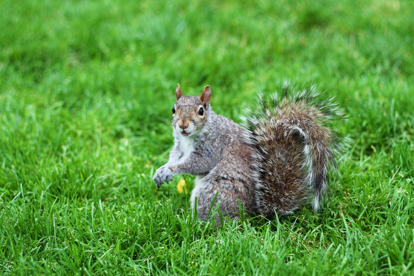
<svg viewBox="0 0 414 276">
<path fill-rule="evenodd" d="M 318 101 L 317 95 L 314 86 L 299 91 L 286 82 L 284 97 L 259 97 L 242 127 L 214 113 L 209 85 L 200 97 L 189 97 L 178 84 L 174 146 L 153 180 L 159 187 L 175 174 L 195 175 L 191 207 L 197 198 L 201 220 L 209 218 L 212 204 L 237 217 L 239 201 L 245 211 L 272 218 L 275 212 L 293 213 L 313 196 L 318 211 L 339 152 L 339 138 L 326 123 L 341 110 L 332 99 Z"/>
</svg>

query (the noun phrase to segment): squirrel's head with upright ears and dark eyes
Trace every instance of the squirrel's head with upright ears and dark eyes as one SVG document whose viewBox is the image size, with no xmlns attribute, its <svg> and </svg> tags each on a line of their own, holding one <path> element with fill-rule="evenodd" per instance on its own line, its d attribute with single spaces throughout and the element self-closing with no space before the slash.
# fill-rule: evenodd
<svg viewBox="0 0 414 276">
<path fill-rule="evenodd" d="M 200 97 L 189 97 L 183 96 L 181 87 L 177 84 L 176 97 L 172 119 L 174 131 L 183 136 L 199 135 L 207 123 L 211 98 L 210 86 L 204 87 Z"/>
</svg>

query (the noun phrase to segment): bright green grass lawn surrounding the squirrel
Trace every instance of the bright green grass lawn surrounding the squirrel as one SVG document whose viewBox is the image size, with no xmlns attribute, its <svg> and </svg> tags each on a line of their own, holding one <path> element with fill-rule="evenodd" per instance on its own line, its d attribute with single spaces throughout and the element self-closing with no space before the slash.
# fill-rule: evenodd
<svg viewBox="0 0 414 276">
<path fill-rule="evenodd" d="M 0 269 L 10 274 L 414 274 L 414 2 L 0 1 Z M 320 213 L 191 218 L 152 174 L 184 94 L 235 121 L 283 79 L 354 140 Z"/>
</svg>

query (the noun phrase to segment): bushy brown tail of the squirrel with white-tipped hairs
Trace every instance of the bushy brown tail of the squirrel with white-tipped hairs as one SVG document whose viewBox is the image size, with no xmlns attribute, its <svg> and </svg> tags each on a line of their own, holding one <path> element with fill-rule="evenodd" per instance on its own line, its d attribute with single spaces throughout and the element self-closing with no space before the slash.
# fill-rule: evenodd
<svg viewBox="0 0 414 276">
<path fill-rule="evenodd" d="M 318 211 L 327 175 L 336 171 L 338 136 L 327 127 L 341 117 L 332 98 L 321 100 L 315 86 L 301 90 L 285 82 L 284 96 L 259 97 L 258 107 L 243 118 L 246 142 L 255 148 L 256 207 L 261 215 L 292 213 L 313 194 Z"/>
</svg>

